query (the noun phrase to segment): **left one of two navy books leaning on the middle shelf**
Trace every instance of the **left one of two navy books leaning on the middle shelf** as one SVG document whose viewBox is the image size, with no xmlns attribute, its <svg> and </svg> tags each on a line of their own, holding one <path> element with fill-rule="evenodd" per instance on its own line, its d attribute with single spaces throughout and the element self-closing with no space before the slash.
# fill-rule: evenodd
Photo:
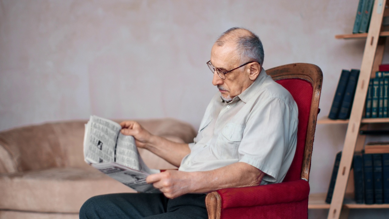
<svg viewBox="0 0 389 219">
<path fill-rule="evenodd" d="M 332 101 L 331 110 L 329 111 L 328 118 L 337 119 L 339 115 L 340 106 L 343 101 L 343 96 L 347 87 L 347 81 L 349 81 L 350 71 L 342 70 L 340 74 L 340 79 L 338 82 L 338 87 L 336 88 L 334 100 Z"/>
</svg>

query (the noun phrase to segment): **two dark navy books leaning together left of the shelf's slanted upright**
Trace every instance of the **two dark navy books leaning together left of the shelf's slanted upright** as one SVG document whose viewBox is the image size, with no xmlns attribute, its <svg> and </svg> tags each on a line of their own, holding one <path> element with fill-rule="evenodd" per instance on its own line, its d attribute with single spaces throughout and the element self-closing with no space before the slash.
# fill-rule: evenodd
<svg viewBox="0 0 389 219">
<path fill-rule="evenodd" d="M 328 118 L 350 118 L 352 102 L 354 101 L 354 94 L 357 87 L 358 77 L 358 69 L 351 69 L 350 71 L 345 69 L 342 70 Z"/>
</svg>

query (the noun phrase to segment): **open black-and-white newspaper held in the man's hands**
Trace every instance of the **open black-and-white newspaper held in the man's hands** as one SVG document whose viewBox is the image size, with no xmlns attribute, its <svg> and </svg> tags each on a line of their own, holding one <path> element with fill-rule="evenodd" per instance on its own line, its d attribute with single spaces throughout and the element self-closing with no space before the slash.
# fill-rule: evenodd
<svg viewBox="0 0 389 219">
<path fill-rule="evenodd" d="M 85 162 L 138 192 L 159 193 L 146 183 L 146 177 L 160 171 L 145 165 L 134 137 L 123 135 L 120 130 L 116 122 L 91 116 L 85 124 Z"/>
</svg>

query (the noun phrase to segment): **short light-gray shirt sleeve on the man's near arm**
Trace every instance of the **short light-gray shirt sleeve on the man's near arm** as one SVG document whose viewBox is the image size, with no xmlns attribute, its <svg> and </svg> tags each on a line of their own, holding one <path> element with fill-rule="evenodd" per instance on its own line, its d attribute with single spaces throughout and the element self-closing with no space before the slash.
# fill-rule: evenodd
<svg viewBox="0 0 389 219">
<path fill-rule="evenodd" d="M 238 148 L 239 161 L 266 173 L 265 181 L 275 182 L 286 155 L 290 162 L 290 155 L 294 156 L 290 143 L 297 133 L 298 118 L 293 112 L 297 109 L 294 108 L 277 97 L 268 98 L 254 106 L 247 119 Z"/>
</svg>

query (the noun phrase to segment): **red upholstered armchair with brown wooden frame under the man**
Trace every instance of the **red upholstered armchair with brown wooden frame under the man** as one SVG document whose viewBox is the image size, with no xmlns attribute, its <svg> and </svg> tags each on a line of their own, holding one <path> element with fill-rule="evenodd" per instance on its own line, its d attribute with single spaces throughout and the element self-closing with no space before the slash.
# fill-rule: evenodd
<svg viewBox="0 0 389 219">
<path fill-rule="evenodd" d="M 282 65 L 266 73 L 292 94 L 298 106 L 293 162 L 281 183 L 207 194 L 209 219 L 308 218 L 309 170 L 323 75 L 319 67 L 305 63 Z"/>
</svg>

